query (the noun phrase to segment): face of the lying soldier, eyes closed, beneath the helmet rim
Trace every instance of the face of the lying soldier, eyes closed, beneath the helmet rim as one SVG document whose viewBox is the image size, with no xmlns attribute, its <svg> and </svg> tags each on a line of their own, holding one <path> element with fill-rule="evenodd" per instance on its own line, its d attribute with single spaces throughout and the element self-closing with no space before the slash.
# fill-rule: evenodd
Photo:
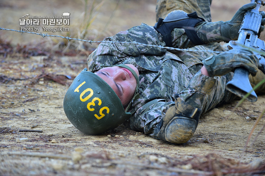
<svg viewBox="0 0 265 176">
<path fill-rule="evenodd" d="M 139 71 L 134 65 L 125 64 L 131 67 L 139 76 Z M 132 72 L 123 67 L 105 67 L 95 72 L 96 75 L 101 77 L 117 94 L 120 98 L 123 107 L 129 105 L 131 99 L 133 99 L 136 89 L 136 79 Z"/>
</svg>

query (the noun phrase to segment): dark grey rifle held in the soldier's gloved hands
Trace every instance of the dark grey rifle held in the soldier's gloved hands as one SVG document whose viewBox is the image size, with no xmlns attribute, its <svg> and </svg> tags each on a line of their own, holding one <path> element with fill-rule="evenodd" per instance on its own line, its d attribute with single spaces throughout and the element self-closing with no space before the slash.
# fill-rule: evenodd
<svg viewBox="0 0 265 176">
<path fill-rule="evenodd" d="M 238 40 L 237 42 L 229 41 L 228 49 L 247 48 L 251 50 L 262 65 L 259 69 L 265 74 L 265 43 L 258 38 L 259 28 L 262 21 L 262 15 L 259 14 L 259 8 L 261 5 L 264 6 L 265 3 L 264 0 L 251 0 L 251 2 L 256 2 L 257 6 L 255 9 L 245 13 L 239 30 Z M 255 102 L 258 99 L 249 81 L 249 71 L 243 67 L 235 69 L 232 80 L 226 84 L 226 89 L 242 98 L 251 92 L 246 98 L 250 102 Z"/>
</svg>

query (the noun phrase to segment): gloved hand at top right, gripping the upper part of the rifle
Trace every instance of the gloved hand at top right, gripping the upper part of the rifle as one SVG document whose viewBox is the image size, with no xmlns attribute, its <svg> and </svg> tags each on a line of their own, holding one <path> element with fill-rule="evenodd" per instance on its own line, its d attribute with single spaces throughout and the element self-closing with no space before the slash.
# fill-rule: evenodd
<svg viewBox="0 0 265 176">
<path fill-rule="evenodd" d="M 220 32 L 221 36 L 223 36 L 225 39 L 224 41 L 229 40 L 237 40 L 238 38 L 238 31 L 240 29 L 242 20 L 244 18 L 244 15 L 246 11 L 249 11 L 251 9 L 254 9 L 256 7 L 256 3 L 249 3 L 242 6 L 233 16 L 233 18 L 230 21 L 221 22 L 220 26 Z M 262 15 L 262 23 L 260 25 L 259 32 L 264 30 L 264 24 L 265 24 L 265 13 L 263 11 L 259 12 L 260 15 Z"/>
</svg>

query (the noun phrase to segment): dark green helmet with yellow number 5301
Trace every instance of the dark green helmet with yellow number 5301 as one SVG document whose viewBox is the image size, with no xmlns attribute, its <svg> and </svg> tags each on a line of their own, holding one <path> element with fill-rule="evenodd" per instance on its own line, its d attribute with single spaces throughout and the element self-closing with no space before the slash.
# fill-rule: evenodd
<svg viewBox="0 0 265 176">
<path fill-rule="evenodd" d="M 73 80 L 64 96 L 63 107 L 73 126 L 88 135 L 114 129 L 131 117 L 113 89 L 87 68 Z"/>
</svg>

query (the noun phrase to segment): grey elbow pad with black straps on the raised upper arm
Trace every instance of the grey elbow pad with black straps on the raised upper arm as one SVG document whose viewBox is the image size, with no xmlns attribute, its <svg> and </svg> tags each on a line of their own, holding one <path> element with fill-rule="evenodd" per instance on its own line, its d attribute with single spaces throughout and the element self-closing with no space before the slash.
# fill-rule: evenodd
<svg viewBox="0 0 265 176">
<path fill-rule="evenodd" d="M 198 17 L 197 12 L 187 14 L 182 10 L 175 10 L 170 12 L 165 19 L 159 18 L 158 22 L 154 25 L 154 29 L 163 36 L 163 41 L 166 47 L 172 47 L 171 31 L 174 28 L 185 29 L 185 32 L 194 45 L 204 45 L 198 37 L 194 26 L 200 22 L 205 21 L 203 18 Z"/>
</svg>

